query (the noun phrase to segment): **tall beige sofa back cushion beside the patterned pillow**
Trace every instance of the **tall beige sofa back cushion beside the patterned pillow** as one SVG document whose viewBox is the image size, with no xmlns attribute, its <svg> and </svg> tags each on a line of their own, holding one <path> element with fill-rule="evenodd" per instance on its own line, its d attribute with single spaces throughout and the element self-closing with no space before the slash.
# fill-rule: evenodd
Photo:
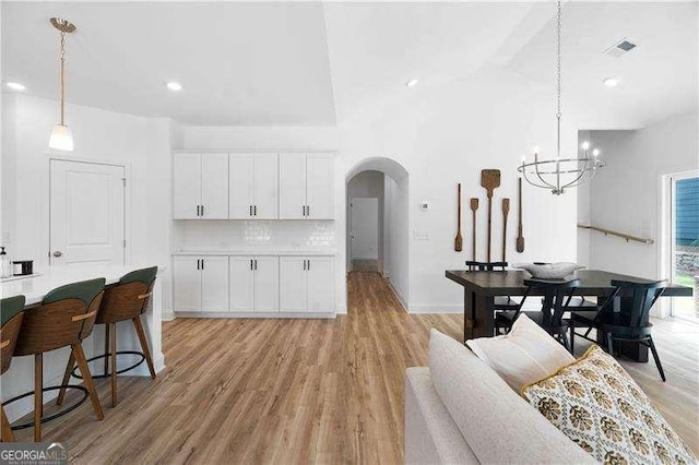
<svg viewBox="0 0 699 465">
<path fill-rule="evenodd" d="M 431 330 L 433 384 L 482 463 L 595 463 L 461 343 Z"/>
</svg>

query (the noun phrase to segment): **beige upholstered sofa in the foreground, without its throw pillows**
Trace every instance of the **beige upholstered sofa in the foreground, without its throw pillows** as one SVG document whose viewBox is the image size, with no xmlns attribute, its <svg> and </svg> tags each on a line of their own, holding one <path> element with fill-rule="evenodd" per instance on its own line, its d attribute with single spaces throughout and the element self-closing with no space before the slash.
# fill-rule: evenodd
<svg viewBox="0 0 699 465">
<path fill-rule="evenodd" d="M 405 463 L 595 463 L 487 365 L 435 330 L 405 375 Z"/>
</svg>

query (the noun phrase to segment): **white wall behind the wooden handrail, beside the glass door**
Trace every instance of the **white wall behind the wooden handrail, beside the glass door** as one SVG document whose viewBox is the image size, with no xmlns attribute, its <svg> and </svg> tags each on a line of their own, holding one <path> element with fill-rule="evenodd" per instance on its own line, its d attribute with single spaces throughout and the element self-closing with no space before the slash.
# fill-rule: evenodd
<svg viewBox="0 0 699 465">
<path fill-rule="evenodd" d="M 661 180 L 664 175 L 699 168 L 698 131 L 697 111 L 637 131 L 591 131 L 607 166 L 590 186 L 590 222 L 650 237 L 655 243 L 627 243 L 581 231 L 589 236 L 590 267 L 653 279 L 670 277 L 661 272 Z"/>
</svg>

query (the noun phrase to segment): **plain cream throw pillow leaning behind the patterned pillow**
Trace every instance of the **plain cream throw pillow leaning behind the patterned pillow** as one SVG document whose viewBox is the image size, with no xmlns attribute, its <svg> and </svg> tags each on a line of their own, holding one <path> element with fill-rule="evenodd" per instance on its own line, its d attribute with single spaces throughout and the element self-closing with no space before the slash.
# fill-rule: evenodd
<svg viewBox="0 0 699 465">
<path fill-rule="evenodd" d="M 521 313 L 502 336 L 466 341 L 473 353 L 516 391 L 576 361 L 550 334 Z"/>
</svg>

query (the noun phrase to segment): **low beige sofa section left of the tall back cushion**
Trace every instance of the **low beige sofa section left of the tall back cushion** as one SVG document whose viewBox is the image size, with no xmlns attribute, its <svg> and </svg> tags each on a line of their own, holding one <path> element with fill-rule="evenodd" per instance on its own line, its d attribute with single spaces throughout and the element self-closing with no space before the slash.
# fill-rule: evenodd
<svg viewBox="0 0 699 465">
<path fill-rule="evenodd" d="M 435 391 L 427 367 L 405 371 L 405 463 L 478 463 Z"/>
</svg>

